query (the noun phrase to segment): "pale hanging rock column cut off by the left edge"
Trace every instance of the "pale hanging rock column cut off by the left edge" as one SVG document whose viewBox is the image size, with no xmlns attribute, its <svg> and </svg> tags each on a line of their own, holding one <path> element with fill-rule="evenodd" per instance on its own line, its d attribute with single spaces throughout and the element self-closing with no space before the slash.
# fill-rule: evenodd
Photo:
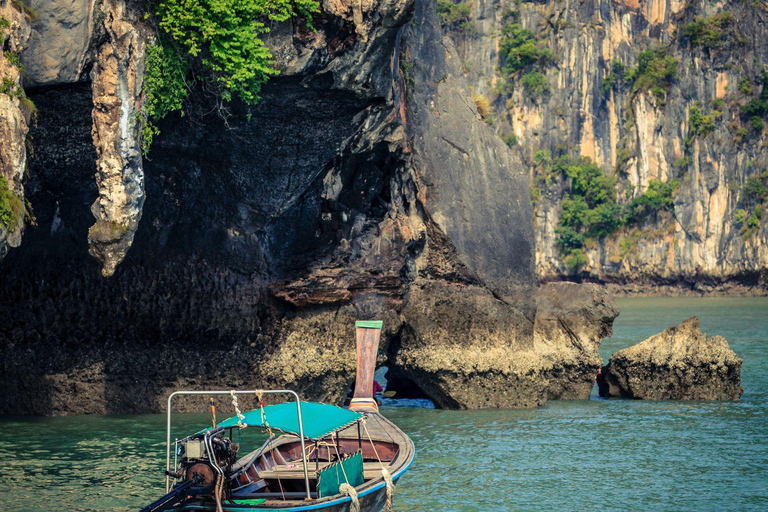
<svg viewBox="0 0 768 512">
<path fill-rule="evenodd" d="M 27 132 L 34 115 L 21 85 L 18 55 L 29 39 L 29 17 L 14 2 L 0 1 L 0 259 L 21 244 L 25 223 L 24 186 Z"/>
</svg>

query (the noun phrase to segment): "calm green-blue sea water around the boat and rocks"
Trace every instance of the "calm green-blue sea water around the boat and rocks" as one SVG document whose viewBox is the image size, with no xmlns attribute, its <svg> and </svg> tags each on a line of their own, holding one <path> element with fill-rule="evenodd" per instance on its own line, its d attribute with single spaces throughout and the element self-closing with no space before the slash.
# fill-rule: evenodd
<svg viewBox="0 0 768 512">
<path fill-rule="evenodd" d="M 691 315 L 744 359 L 741 402 L 386 410 L 416 444 L 398 511 L 768 510 L 768 299 L 624 299 L 611 353 Z M 136 511 L 164 489 L 165 418 L 0 418 L 0 510 Z M 205 416 L 179 416 L 180 436 Z M 247 440 L 246 440 L 247 441 Z"/>
</svg>

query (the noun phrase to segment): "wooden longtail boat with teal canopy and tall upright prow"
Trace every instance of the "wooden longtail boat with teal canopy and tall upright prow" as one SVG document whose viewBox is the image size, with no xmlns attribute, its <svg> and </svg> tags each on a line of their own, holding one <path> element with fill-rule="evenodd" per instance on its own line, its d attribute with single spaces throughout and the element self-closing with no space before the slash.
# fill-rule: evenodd
<svg viewBox="0 0 768 512">
<path fill-rule="evenodd" d="M 357 377 L 348 409 L 303 402 L 291 390 L 176 391 L 168 397 L 166 494 L 141 509 L 160 511 L 390 510 L 395 484 L 410 467 L 413 442 L 379 413 L 373 394 L 381 322 L 357 322 Z M 264 405 L 264 395 L 293 401 Z M 230 396 L 237 414 L 171 442 L 173 399 Z M 241 412 L 237 397 L 260 407 Z M 236 431 L 263 429 L 269 438 L 239 456 Z M 277 436 L 273 432 L 280 432 Z"/>
</svg>

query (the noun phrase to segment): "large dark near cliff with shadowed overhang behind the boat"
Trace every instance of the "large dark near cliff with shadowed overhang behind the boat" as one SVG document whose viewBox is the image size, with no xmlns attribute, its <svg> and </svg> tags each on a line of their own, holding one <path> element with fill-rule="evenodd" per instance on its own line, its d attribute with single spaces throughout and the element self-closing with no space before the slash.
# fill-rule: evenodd
<svg viewBox="0 0 768 512">
<path fill-rule="evenodd" d="M 593 287 L 536 294 L 528 178 L 481 121 L 434 2 L 328 1 L 316 30 L 276 26 L 282 73 L 258 106 L 225 121 L 193 94 L 163 121 L 143 208 L 120 124 L 142 32 L 121 5 L 100 7 L 92 89 L 35 96 L 38 225 L 1 264 L 0 413 L 150 412 L 211 386 L 338 402 L 370 318 L 381 363 L 441 406 L 586 397 L 617 311 Z M 97 197 L 109 229 L 86 238 Z M 125 255 L 112 278 L 89 242 Z"/>
</svg>

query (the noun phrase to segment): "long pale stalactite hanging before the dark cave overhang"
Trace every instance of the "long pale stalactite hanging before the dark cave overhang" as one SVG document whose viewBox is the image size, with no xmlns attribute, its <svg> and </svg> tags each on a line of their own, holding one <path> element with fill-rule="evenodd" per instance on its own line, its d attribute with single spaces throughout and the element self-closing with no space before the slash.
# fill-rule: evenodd
<svg viewBox="0 0 768 512">
<path fill-rule="evenodd" d="M 93 144 L 99 197 L 91 210 L 90 253 L 109 277 L 125 258 L 144 207 L 141 107 L 147 29 L 141 11 L 125 0 L 100 8 L 101 44 L 93 69 Z"/>
</svg>

